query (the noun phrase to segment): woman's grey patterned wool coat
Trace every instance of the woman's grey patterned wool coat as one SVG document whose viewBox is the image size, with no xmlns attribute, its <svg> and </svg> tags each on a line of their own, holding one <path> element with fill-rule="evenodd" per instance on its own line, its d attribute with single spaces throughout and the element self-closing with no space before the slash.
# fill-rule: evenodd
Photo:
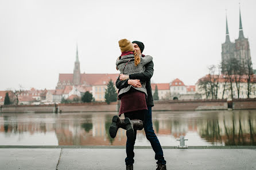
<svg viewBox="0 0 256 170">
<path fill-rule="evenodd" d="M 134 64 L 134 54 L 129 54 L 126 56 L 119 57 L 119 60 L 117 60 L 117 69 L 120 71 L 120 74 L 130 75 L 133 73 L 142 73 L 145 71 L 145 65 L 148 64 L 150 61 L 153 60 L 153 57 L 151 56 L 145 56 L 141 57 L 141 62 L 137 66 Z M 146 82 L 141 82 L 142 87 L 141 88 L 135 88 L 132 85 L 127 86 L 126 88 L 122 88 L 119 93 L 118 97 L 128 92 L 131 88 L 134 88 L 136 90 L 139 90 L 141 92 L 144 92 L 146 96 L 148 96 L 147 90 L 146 90 Z"/>
</svg>

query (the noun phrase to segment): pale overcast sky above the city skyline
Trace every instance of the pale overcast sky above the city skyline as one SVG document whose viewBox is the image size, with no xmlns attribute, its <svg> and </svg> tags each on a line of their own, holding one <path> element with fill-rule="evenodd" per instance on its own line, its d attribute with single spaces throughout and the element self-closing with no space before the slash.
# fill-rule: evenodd
<svg viewBox="0 0 256 170">
<path fill-rule="evenodd" d="M 221 61 L 226 10 L 230 39 L 243 31 L 256 68 L 255 0 L 0 0 L 0 90 L 55 89 L 59 73 L 73 73 L 76 42 L 81 73 L 119 73 L 119 39 L 145 44 L 154 83 L 185 85 Z"/>
</svg>

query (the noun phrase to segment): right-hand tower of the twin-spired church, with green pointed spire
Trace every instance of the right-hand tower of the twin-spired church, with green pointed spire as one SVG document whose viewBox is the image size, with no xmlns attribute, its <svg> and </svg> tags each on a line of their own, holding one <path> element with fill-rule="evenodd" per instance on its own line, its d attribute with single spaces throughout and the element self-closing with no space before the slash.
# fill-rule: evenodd
<svg viewBox="0 0 256 170">
<path fill-rule="evenodd" d="M 241 62 L 242 66 L 248 69 L 248 62 L 251 64 L 251 53 L 248 38 L 243 35 L 241 10 L 239 7 L 239 37 L 235 39 L 235 58 Z M 251 68 L 252 69 L 252 68 Z"/>
</svg>

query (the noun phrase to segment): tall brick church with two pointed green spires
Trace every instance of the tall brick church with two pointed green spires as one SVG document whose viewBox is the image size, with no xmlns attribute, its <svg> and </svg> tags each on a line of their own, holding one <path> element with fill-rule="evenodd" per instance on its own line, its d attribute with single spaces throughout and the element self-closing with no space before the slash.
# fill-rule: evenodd
<svg viewBox="0 0 256 170">
<path fill-rule="evenodd" d="M 228 24 L 227 24 L 227 16 L 226 16 L 226 41 L 222 44 L 222 63 L 227 61 L 230 58 L 236 58 L 241 65 L 248 68 L 247 63 L 250 64 L 251 68 L 253 68 L 251 64 L 251 53 L 250 53 L 250 45 L 248 38 L 245 38 L 243 35 L 243 26 L 241 19 L 241 10 L 239 9 L 239 37 L 235 39 L 235 42 L 230 41 L 230 35 L 228 33 Z M 224 68 L 224 65 L 222 65 Z M 222 71 L 224 74 L 224 71 Z"/>
</svg>

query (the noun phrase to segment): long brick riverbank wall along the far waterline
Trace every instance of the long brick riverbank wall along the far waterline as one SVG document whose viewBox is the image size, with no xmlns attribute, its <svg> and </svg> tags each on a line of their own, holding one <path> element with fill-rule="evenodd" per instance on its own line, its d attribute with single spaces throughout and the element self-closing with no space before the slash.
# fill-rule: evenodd
<svg viewBox="0 0 256 170">
<path fill-rule="evenodd" d="M 154 101 L 154 111 L 256 109 L 256 99 Z M 53 105 L 1 105 L 0 113 L 118 112 L 120 101 Z"/>
</svg>

